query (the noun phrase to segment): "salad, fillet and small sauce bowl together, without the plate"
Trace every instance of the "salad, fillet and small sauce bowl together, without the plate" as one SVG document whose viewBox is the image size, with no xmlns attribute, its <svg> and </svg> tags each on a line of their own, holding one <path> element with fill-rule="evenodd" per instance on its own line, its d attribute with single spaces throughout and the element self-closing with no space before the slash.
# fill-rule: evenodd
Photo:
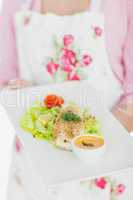
<svg viewBox="0 0 133 200">
<path fill-rule="evenodd" d="M 49 94 L 28 108 L 20 126 L 35 139 L 72 151 L 86 164 L 105 153 L 101 124 L 89 108 L 66 102 L 56 94 Z"/>
</svg>

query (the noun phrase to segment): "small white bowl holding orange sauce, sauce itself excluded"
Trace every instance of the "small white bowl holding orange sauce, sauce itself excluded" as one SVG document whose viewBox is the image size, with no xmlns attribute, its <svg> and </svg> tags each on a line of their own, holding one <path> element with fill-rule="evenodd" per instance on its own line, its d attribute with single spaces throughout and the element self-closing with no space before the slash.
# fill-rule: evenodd
<svg viewBox="0 0 133 200">
<path fill-rule="evenodd" d="M 80 139 L 81 137 L 90 137 L 90 138 L 97 138 L 97 139 L 102 139 L 103 140 L 103 145 L 101 145 L 100 147 L 97 147 L 95 149 L 91 149 L 91 148 L 82 148 L 76 145 L 76 141 L 77 139 Z M 102 137 L 97 136 L 97 135 L 80 135 L 77 136 L 73 139 L 72 141 L 72 149 L 74 154 L 83 162 L 91 164 L 97 160 L 99 160 L 99 158 L 101 158 L 106 150 L 106 145 L 105 145 L 105 141 Z"/>
</svg>

